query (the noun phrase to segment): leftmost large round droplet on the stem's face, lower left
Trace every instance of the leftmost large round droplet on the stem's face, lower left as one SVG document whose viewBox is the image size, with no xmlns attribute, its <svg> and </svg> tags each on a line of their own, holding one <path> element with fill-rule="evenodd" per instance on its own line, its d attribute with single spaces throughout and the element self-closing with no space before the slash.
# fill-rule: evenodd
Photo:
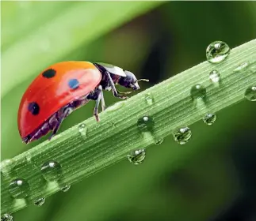
<svg viewBox="0 0 256 221">
<path fill-rule="evenodd" d="M 9 193 L 12 197 L 22 199 L 29 195 L 29 183 L 25 179 L 17 178 L 10 182 Z"/>
</svg>

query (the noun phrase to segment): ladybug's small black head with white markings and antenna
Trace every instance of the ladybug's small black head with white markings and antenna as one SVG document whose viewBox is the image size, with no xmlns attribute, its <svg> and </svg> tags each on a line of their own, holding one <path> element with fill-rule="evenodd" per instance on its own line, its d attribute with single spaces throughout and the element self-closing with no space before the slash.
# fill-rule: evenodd
<svg viewBox="0 0 256 221">
<path fill-rule="evenodd" d="M 118 84 L 125 88 L 132 88 L 133 90 L 139 90 L 139 84 L 138 81 L 148 81 L 147 79 L 139 79 L 137 80 L 136 76 L 128 71 L 124 70 L 125 77 L 120 77 L 118 80 Z"/>
</svg>

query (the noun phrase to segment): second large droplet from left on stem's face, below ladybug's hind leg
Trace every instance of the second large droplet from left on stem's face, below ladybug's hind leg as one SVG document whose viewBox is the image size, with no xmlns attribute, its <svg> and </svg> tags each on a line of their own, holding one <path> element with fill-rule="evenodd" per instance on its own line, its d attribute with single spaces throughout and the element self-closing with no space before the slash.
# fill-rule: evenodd
<svg viewBox="0 0 256 221">
<path fill-rule="evenodd" d="M 41 167 L 41 172 L 45 180 L 49 182 L 57 181 L 62 176 L 62 168 L 60 164 L 54 160 L 44 163 Z"/>
</svg>

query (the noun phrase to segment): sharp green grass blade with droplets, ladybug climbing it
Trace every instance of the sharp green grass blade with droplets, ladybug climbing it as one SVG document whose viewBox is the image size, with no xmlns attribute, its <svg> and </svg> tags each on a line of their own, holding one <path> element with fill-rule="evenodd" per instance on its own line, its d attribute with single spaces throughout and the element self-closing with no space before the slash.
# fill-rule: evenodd
<svg viewBox="0 0 256 221">
<path fill-rule="evenodd" d="M 155 140 L 170 135 L 174 129 L 201 120 L 204 114 L 216 113 L 242 101 L 246 88 L 256 83 L 255 51 L 256 39 L 235 47 L 220 64 L 202 62 L 117 103 L 100 114 L 101 122 L 87 119 L 82 122 L 86 125 L 86 136 L 82 136 L 75 125 L 50 142 L 45 141 L 8 163 L 2 162 L 1 214 L 24 208 L 39 197 L 48 197 L 63 185 L 72 185 L 117 163 L 132 150 L 147 148 Z M 235 70 L 243 62 L 249 65 Z M 212 69 L 220 72 L 219 87 L 209 81 Z M 204 85 L 208 97 L 207 103 L 197 107 L 190 97 L 190 88 L 195 84 Z M 148 93 L 153 98 L 152 103 L 147 103 Z M 154 133 L 139 133 L 137 121 L 145 115 L 154 119 Z M 45 182 L 40 171 L 41 165 L 51 159 L 59 162 L 63 171 L 62 178 L 55 183 Z M 25 202 L 10 197 L 9 184 L 15 178 L 29 182 L 30 193 Z"/>
</svg>

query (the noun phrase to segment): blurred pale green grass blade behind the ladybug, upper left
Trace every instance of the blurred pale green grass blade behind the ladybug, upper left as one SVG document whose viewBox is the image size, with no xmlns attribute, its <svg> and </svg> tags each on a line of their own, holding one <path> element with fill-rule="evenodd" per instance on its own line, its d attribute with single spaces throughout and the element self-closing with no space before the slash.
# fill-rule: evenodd
<svg viewBox="0 0 256 221">
<path fill-rule="evenodd" d="M 76 2 L 2 53 L 1 97 L 82 43 L 90 43 L 160 4 L 162 2 Z"/>
</svg>

